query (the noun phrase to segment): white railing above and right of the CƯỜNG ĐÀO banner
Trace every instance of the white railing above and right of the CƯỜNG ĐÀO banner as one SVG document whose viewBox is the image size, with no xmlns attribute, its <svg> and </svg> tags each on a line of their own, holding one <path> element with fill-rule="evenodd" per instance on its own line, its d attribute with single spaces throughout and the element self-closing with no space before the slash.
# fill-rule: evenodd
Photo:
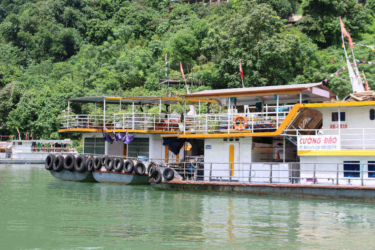
<svg viewBox="0 0 375 250">
<path fill-rule="evenodd" d="M 291 133 L 288 133 L 291 132 Z M 337 135 L 337 150 L 375 149 L 375 128 L 355 129 L 286 129 L 284 135 Z"/>
</svg>

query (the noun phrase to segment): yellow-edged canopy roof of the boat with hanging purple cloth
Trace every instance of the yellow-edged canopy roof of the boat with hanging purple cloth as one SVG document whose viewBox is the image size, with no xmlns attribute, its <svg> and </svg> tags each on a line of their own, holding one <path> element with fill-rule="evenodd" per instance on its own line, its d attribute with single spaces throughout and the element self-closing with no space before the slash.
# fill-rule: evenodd
<svg viewBox="0 0 375 250">
<path fill-rule="evenodd" d="M 157 96 L 134 96 L 134 97 L 108 97 L 108 96 L 85 96 L 68 99 L 70 102 L 82 103 L 105 103 L 106 104 L 178 104 L 184 101 L 181 98 L 174 97 L 157 97 Z M 190 103 L 199 103 L 199 100 L 192 99 Z M 201 100 L 201 102 L 216 102 L 214 100 Z"/>
</svg>

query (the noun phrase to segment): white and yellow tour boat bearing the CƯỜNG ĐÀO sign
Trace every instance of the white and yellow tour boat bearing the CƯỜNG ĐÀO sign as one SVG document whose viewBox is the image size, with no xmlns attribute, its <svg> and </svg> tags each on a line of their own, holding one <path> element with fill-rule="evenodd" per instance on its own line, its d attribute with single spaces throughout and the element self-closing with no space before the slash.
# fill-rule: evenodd
<svg viewBox="0 0 375 250">
<path fill-rule="evenodd" d="M 183 95 L 228 112 L 184 114 L 182 133 L 161 135 L 204 158 L 159 165 L 151 186 L 375 200 L 375 91 L 355 94 L 373 98 L 335 100 L 322 82 Z"/>
</svg>

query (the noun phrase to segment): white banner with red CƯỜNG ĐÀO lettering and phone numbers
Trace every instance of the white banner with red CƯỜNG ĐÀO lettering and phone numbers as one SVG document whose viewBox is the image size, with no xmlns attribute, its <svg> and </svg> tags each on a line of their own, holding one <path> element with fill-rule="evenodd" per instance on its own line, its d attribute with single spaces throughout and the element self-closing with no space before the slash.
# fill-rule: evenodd
<svg viewBox="0 0 375 250">
<path fill-rule="evenodd" d="M 338 150 L 338 135 L 299 135 L 297 136 L 298 150 Z"/>
</svg>

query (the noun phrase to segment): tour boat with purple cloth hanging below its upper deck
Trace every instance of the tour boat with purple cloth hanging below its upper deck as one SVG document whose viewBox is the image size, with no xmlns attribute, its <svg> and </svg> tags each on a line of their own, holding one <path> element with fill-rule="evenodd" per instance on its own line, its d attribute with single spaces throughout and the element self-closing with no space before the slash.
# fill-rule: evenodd
<svg viewBox="0 0 375 250">
<path fill-rule="evenodd" d="M 96 181 L 148 184 L 148 169 L 153 164 L 171 163 L 179 161 L 180 157 L 184 158 L 184 149 L 179 148 L 177 153 L 174 151 L 176 153 L 174 154 L 168 150 L 167 146 L 163 145 L 163 139 L 160 137 L 161 134 L 177 135 L 183 129 L 181 127 L 183 123 L 179 122 L 181 114 L 170 110 L 171 105 L 183 103 L 183 99 L 154 96 L 78 97 L 68 100 L 68 110 L 70 110 L 72 102 L 94 103 L 95 109 L 97 109 L 97 105 L 102 105 L 103 108 L 103 115 L 66 115 L 61 121 L 61 129 L 58 131 L 60 133 L 83 133 L 85 161 L 93 158 L 92 163 L 88 162 L 83 172 L 92 171 Z M 200 105 L 200 102 L 193 100 L 190 105 Z M 202 102 L 212 103 L 214 101 Z M 108 105 L 117 108 L 118 113 L 106 115 Z M 130 105 L 132 111 L 121 112 L 124 105 Z M 137 105 L 140 112 L 136 112 Z M 144 112 L 145 105 L 159 106 L 159 113 Z M 165 105 L 167 111 L 169 108 L 170 112 L 163 114 L 161 112 L 162 105 Z M 101 158 L 102 163 L 97 158 Z M 121 159 L 121 161 L 117 159 Z M 97 165 L 95 165 L 96 163 Z M 85 163 L 81 162 L 80 164 Z M 95 166 L 92 167 L 89 164 Z M 76 165 L 74 167 L 80 169 Z M 74 172 L 75 168 L 70 168 L 69 172 Z M 66 176 L 65 178 L 69 180 L 70 177 Z"/>
</svg>

